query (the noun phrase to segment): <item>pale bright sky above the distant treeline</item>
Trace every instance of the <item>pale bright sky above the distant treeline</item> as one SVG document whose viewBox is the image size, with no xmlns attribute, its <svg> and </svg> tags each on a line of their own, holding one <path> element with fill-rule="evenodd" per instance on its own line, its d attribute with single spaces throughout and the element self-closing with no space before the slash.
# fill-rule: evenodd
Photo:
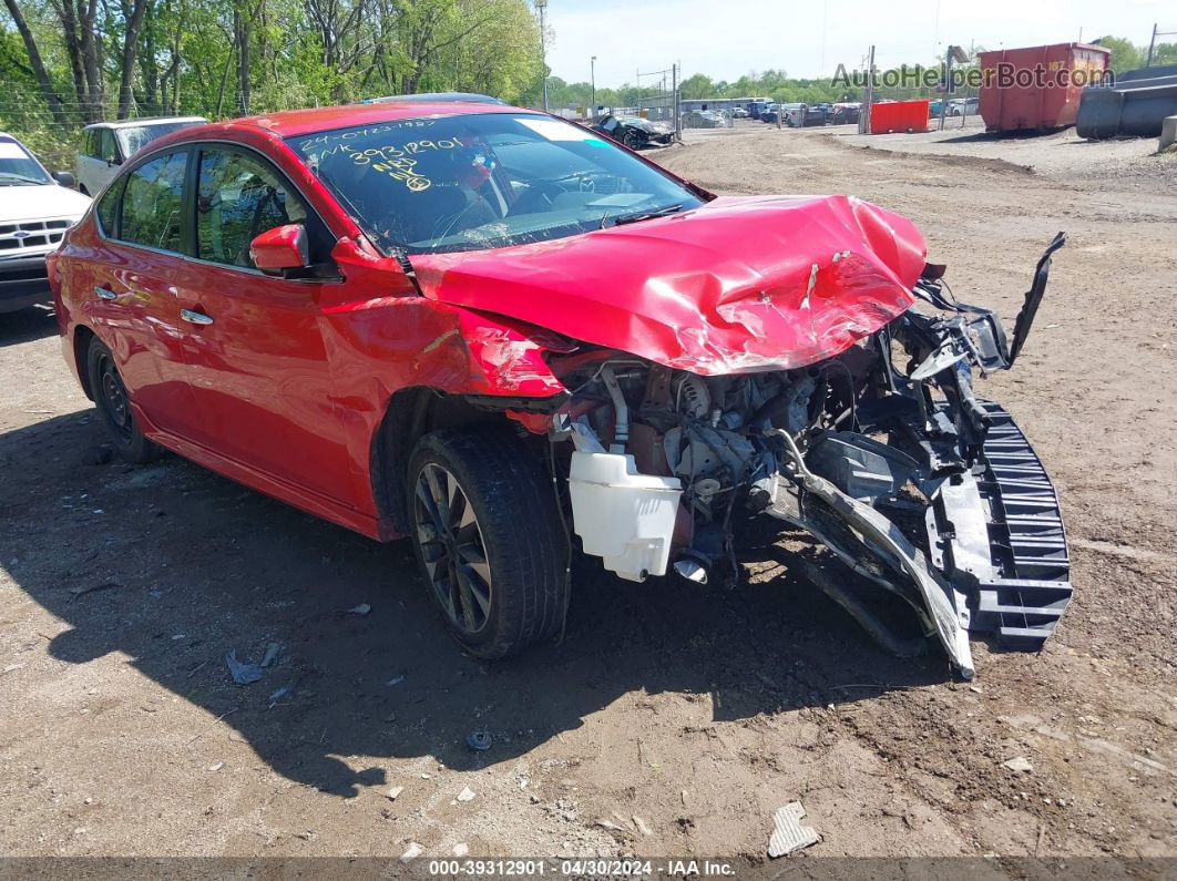
<svg viewBox="0 0 1177 881">
<path fill-rule="evenodd" d="M 937 9 L 939 11 L 937 21 Z M 552 73 L 618 86 L 680 61 L 687 76 L 737 79 L 783 67 L 793 76 L 858 66 L 876 45 L 880 67 L 927 61 L 945 44 L 985 48 L 1093 40 L 1148 42 L 1152 22 L 1177 31 L 1172 0 L 548 0 Z M 824 26 L 823 26 L 824 21 Z M 823 52 L 824 33 L 824 52 Z M 1177 41 L 1177 38 L 1169 38 Z"/>
</svg>

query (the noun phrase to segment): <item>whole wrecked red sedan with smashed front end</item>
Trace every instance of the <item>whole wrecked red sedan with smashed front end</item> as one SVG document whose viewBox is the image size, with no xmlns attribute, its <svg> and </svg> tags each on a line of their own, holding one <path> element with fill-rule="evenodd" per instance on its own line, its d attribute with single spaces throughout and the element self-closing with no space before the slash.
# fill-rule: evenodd
<svg viewBox="0 0 1177 881">
<path fill-rule="evenodd" d="M 553 116 L 392 101 L 153 142 L 51 276 L 122 458 L 166 448 L 410 536 L 476 654 L 559 630 L 572 533 L 621 578 L 723 583 L 765 514 L 906 601 L 971 675 L 966 628 L 1045 639 L 1066 548 L 1045 472 L 971 389 L 1029 321 L 1008 343 L 924 251 L 856 199 L 716 198 Z M 1010 450 L 1040 478 L 1003 469 Z M 912 506 L 923 540 L 889 519 Z M 993 599 L 1031 581 L 1016 612 Z"/>
</svg>

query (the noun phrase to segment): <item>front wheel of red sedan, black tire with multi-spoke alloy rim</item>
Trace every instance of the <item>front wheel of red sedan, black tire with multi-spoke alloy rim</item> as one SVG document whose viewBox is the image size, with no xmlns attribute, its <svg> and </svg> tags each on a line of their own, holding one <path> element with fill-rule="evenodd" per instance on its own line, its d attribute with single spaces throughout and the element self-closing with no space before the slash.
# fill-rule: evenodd
<svg viewBox="0 0 1177 881">
<path fill-rule="evenodd" d="M 407 476 L 417 560 L 458 642 L 494 659 L 556 634 L 568 545 L 543 458 L 505 427 L 440 431 Z"/>
</svg>

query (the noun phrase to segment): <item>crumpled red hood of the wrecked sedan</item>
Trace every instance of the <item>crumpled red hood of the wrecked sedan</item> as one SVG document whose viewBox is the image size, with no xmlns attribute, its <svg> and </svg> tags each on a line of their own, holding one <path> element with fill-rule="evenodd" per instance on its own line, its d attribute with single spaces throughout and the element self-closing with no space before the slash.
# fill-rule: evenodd
<svg viewBox="0 0 1177 881">
<path fill-rule="evenodd" d="M 831 358 L 905 312 L 915 225 L 849 196 L 726 196 L 492 251 L 411 258 L 423 293 L 703 375 Z"/>
</svg>

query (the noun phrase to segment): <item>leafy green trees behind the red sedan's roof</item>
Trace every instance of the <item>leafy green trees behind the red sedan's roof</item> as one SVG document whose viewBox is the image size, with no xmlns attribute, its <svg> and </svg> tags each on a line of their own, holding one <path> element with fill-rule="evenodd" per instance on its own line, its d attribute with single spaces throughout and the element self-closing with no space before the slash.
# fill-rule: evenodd
<svg viewBox="0 0 1177 881">
<path fill-rule="evenodd" d="M 60 160 L 100 120 L 454 89 L 527 102 L 544 73 L 527 0 L 4 4 L 0 127 Z"/>
</svg>

